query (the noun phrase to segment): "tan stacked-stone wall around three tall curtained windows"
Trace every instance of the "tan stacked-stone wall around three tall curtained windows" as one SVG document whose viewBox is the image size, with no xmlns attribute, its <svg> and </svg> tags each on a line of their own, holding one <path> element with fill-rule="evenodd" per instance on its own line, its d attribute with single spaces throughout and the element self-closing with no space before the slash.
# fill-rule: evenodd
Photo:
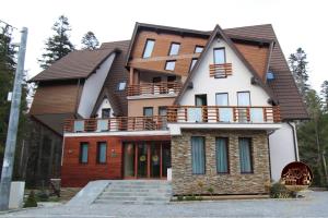
<svg viewBox="0 0 328 218">
<path fill-rule="evenodd" d="M 192 174 L 191 136 L 206 137 L 206 174 Z M 230 173 L 216 173 L 215 137 L 229 137 Z M 241 173 L 238 137 L 251 137 L 253 173 Z M 263 194 L 270 181 L 269 155 L 266 131 L 183 130 L 172 137 L 172 170 L 174 195 L 209 194 Z M 198 183 L 203 187 L 200 189 Z"/>
</svg>

